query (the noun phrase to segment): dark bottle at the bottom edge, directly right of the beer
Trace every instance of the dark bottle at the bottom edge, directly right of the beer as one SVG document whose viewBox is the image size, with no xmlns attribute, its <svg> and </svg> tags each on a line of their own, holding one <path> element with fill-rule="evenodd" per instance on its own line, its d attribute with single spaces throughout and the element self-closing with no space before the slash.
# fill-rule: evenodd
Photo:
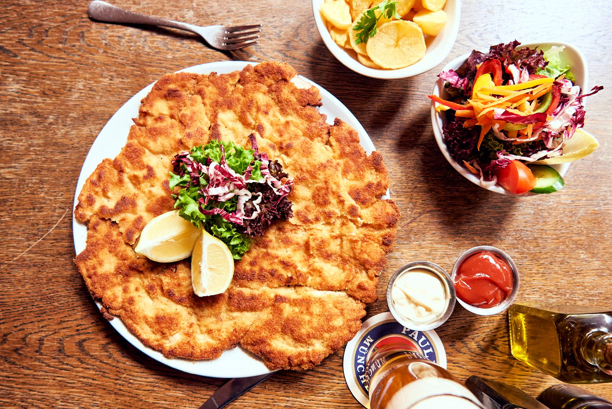
<svg viewBox="0 0 612 409">
<path fill-rule="evenodd" d="M 487 409 L 549 409 L 514 386 L 472 375 L 465 386 Z"/>
</svg>

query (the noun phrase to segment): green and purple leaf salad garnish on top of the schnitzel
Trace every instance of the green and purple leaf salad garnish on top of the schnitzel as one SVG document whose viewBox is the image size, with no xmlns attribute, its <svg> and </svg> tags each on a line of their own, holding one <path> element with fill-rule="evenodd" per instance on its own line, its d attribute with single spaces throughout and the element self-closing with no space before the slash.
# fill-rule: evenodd
<svg viewBox="0 0 612 409">
<path fill-rule="evenodd" d="M 293 178 L 259 152 L 254 134 L 249 139 L 252 149 L 218 140 L 193 147 L 174 156 L 170 172 L 170 189 L 182 187 L 173 194 L 179 215 L 222 240 L 238 260 L 272 221 L 293 217 Z"/>
</svg>

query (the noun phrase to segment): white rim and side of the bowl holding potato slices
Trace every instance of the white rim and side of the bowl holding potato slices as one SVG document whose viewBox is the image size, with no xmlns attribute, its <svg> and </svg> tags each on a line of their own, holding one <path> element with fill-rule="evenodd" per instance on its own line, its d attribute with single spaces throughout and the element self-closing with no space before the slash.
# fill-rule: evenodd
<svg viewBox="0 0 612 409">
<path fill-rule="evenodd" d="M 357 61 L 357 53 L 353 50 L 347 50 L 340 47 L 329 34 L 325 20 L 321 16 L 321 4 L 325 0 L 312 0 L 312 9 L 315 16 L 316 28 L 321 34 L 321 38 L 335 58 L 340 61 L 345 67 L 371 78 L 381 79 L 397 79 L 414 77 L 414 75 L 423 74 L 430 71 L 446 58 L 450 50 L 455 44 L 457 33 L 459 31 L 459 20 L 461 15 L 461 0 L 446 0 L 444 11 L 448 15 L 448 20 L 438 36 L 425 36 L 425 44 L 427 51 L 422 59 L 412 64 L 411 66 L 398 69 L 374 69 L 366 67 Z"/>
</svg>

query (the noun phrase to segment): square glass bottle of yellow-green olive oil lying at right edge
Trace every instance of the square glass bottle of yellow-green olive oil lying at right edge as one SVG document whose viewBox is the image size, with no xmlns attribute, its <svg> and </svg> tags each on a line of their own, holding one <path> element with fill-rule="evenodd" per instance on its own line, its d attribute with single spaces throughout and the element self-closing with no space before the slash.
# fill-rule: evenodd
<svg viewBox="0 0 612 409">
<path fill-rule="evenodd" d="M 512 355 L 566 383 L 612 382 L 612 311 L 513 304 Z"/>
</svg>

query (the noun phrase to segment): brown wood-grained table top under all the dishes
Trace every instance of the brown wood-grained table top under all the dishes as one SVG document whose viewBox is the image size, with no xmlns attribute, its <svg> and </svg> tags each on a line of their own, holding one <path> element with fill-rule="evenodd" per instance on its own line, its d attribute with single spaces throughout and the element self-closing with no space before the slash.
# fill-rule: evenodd
<svg viewBox="0 0 612 409">
<path fill-rule="evenodd" d="M 403 80 L 346 69 L 327 51 L 307 1 L 123 0 L 120 6 L 206 25 L 262 23 L 255 47 L 221 53 L 166 29 L 90 21 L 85 1 L 4 0 L 0 7 L 0 406 L 198 407 L 223 383 L 145 356 L 92 302 L 72 264 L 72 205 L 81 165 L 106 121 L 166 72 L 210 61 L 287 61 L 338 97 L 359 119 L 389 169 L 400 207 L 395 251 L 368 315 L 386 311 L 389 276 L 426 259 L 450 270 L 464 250 L 494 245 L 521 272 L 518 300 L 612 305 L 612 12 L 608 2 L 471 2 L 444 63 Z M 562 40 L 589 62 L 586 129 L 601 147 L 575 162 L 567 186 L 514 198 L 466 181 L 436 147 L 426 97 L 441 67 L 472 48 L 513 39 Z M 448 369 L 482 375 L 537 395 L 558 383 L 515 360 L 507 317 L 458 306 L 437 330 Z M 346 387 L 343 348 L 308 372 L 280 372 L 231 407 L 359 408 Z M 612 400 L 612 384 L 588 389 Z"/>
</svg>

